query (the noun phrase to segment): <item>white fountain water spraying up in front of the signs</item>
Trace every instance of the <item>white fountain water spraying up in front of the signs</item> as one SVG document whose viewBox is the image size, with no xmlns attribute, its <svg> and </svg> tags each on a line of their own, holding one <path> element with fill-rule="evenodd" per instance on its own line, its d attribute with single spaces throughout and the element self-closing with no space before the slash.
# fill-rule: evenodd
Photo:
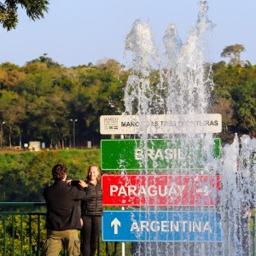
<svg viewBox="0 0 256 256">
<path fill-rule="evenodd" d="M 137 149 L 143 152 L 141 166 L 144 168 L 138 174 L 153 174 L 155 177 L 159 174 L 173 177 L 188 175 L 191 177 L 190 186 L 195 186 L 201 175 L 208 177 L 201 190 L 197 191 L 197 195 L 205 195 L 201 197 L 200 203 L 184 205 L 181 200 L 174 204 L 173 199 L 169 199 L 165 207 L 158 207 L 157 202 L 155 206 L 147 205 L 147 198 L 145 199 L 146 206 L 139 207 L 139 211 L 146 212 L 146 216 L 154 211 L 155 218 L 158 218 L 158 211 L 164 210 L 170 212 L 168 214 L 177 212 L 179 221 L 171 221 L 171 228 L 164 226 L 166 241 L 162 238 L 158 240 L 157 229 L 154 228 L 154 241 L 148 237 L 133 243 L 133 255 L 254 255 L 255 252 L 253 220 L 250 218 L 251 210 L 255 207 L 253 194 L 256 170 L 252 160 L 255 157 L 255 139 L 241 137 L 239 143 L 236 137 L 232 145 L 223 148 L 222 158 L 216 159 L 212 155 L 213 134 L 195 132 L 193 123 L 189 123 L 190 132 L 185 134 L 182 131 L 166 131 L 162 135 L 155 131 L 148 132 L 148 125 L 152 125 L 151 115 L 177 114 L 182 117 L 185 114 L 193 120 L 196 114 L 208 112 L 213 82 L 211 66 L 206 63 L 207 40 L 214 25 L 207 18 L 207 11 L 207 2 L 200 2 L 196 26 L 191 28 L 185 43 L 178 37 L 176 26 L 169 25 L 163 38 L 166 49 L 163 55 L 159 54 L 154 44 L 154 36 L 148 23 L 136 20 L 126 36 L 125 55 L 131 54 L 132 74 L 125 88 L 124 114 L 131 115 L 131 119 L 137 116 L 140 123 L 144 124 L 143 131 L 134 136 L 137 138 Z M 170 125 L 171 122 L 168 119 L 166 123 Z M 175 152 L 182 152 L 182 155 L 167 157 L 166 151 L 163 153 L 157 148 L 154 141 L 156 138 L 165 140 L 167 147 L 174 148 L 172 154 L 176 150 Z M 151 148 L 148 149 L 148 145 Z M 160 168 L 158 159 L 167 160 L 166 168 Z M 150 161 L 153 162 L 153 167 L 149 166 Z M 221 177 L 220 191 L 216 184 L 212 185 L 212 178 L 218 176 Z M 147 182 L 146 180 L 146 185 Z M 188 193 L 192 197 L 190 189 Z M 207 205 L 206 195 L 212 196 L 215 202 L 213 205 Z M 217 233 L 214 233 L 216 230 L 207 226 L 210 222 L 203 224 L 202 219 L 198 222 L 196 219 L 189 219 L 185 224 L 181 218 L 188 212 L 199 212 L 201 215 L 211 212 L 213 225 L 219 221 L 221 240 L 214 237 L 202 239 L 194 234 L 192 238 L 181 237 L 178 241 L 172 238 L 173 241 L 170 241 L 171 235 L 168 233 L 174 228 L 188 229 L 191 232 L 204 230 L 208 236 L 213 234 L 217 237 Z M 154 221 L 155 223 L 159 224 L 158 221 Z M 139 231 L 137 236 L 141 236 Z"/>
</svg>

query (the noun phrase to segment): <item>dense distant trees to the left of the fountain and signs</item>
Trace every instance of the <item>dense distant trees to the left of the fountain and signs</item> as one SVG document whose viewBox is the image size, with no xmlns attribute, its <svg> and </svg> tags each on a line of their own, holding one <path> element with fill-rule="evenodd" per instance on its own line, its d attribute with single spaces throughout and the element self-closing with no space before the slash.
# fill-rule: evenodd
<svg viewBox="0 0 256 256">
<path fill-rule="evenodd" d="M 22 137 L 26 143 L 41 141 L 47 148 L 67 148 L 73 144 L 73 127 L 69 120 L 78 119 L 76 145 L 84 147 L 86 141 L 97 145 L 100 115 L 121 113 L 124 108 L 122 98 L 126 77 L 119 63 L 113 60 L 99 67 L 67 68 L 44 54 L 28 61 L 24 67 L 3 63 L 0 65 L 0 105 L 3 102 L 0 119 L 6 122 L 3 144 L 7 146 L 10 137 L 17 145 Z M 9 108 L 10 102 L 4 100 L 4 93 L 19 96 L 23 102 L 17 102 L 14 108 L 26 110 L 17 118 L 13 115 L 15 122 L 11 127 L 7 125 L 4 111 L 12 108 Z"/>
</svg>

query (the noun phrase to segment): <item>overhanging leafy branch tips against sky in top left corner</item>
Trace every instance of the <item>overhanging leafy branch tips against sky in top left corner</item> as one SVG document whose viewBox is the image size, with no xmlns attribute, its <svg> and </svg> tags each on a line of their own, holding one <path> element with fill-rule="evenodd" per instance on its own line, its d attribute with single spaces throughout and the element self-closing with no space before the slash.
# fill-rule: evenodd
<svg viewBox="0 0 256 256">
<path fill-rule="evenodd" d="M 44 18 L 44 12 L 48 11 L 48 0 L 5 0 L 0 2 L 0 24 L 10 31 L 18 24 L 18 6 L 26 9 L 26 15 L 37 20 Z"/>
</svg>

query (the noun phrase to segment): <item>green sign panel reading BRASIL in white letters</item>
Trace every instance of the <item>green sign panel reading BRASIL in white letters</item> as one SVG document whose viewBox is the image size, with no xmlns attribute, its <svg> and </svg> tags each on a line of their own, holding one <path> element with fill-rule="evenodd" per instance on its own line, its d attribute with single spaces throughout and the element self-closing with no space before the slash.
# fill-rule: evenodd
<svg viewBox="0 0 256 256">
<path fill-rule="evenodd" d="M 219 157 L 220 139 L 210 146 L 198 139 L 109 139 L 102 140 L 101 154 L 102 170 L 203 168 L 209 157 Z"/>
</svg>

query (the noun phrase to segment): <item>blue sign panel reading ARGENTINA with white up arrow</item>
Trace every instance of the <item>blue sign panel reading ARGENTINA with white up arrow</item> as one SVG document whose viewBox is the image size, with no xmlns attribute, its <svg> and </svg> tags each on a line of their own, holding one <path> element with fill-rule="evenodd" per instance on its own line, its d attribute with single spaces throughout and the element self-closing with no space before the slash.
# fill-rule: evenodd
<svg viewBox="0 0 256 256">
<path fill-rule="evenodd" d="M 219 212 L 104 211 L 103 241 L 221 241 Z"/>
</svg>

